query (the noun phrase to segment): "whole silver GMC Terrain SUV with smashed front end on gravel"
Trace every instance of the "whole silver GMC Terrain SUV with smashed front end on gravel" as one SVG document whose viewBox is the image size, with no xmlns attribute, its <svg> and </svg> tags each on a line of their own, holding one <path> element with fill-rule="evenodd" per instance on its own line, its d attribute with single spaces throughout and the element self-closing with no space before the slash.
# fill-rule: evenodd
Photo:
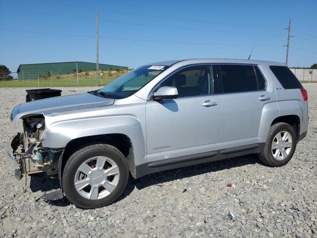
<svg viewBox="0 0 317 238">
<path fill-rule="evenodd" d="M 292 158 L 308 127 L 307 91 L 285 64 L 196 59 L 146 64 L 105 87 L 24 103 L 8 143 L 15 174 L 58 175 L 81 208 L 113 202 L 159 171 L 258 154 Z M 212 166 L 212 165 L 210 165 Z"/>
</svg>

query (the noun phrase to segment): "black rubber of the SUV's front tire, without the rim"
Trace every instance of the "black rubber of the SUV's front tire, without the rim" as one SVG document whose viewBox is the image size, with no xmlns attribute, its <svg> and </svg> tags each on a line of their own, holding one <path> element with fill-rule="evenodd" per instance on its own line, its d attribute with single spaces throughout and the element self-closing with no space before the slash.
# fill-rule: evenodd
<svg viewBox="0 0 317 238">
<path fill-rule="evenodd" d="M 79 166 L 89 158 L 105 156 L 113 160 L 119 168 L 119 181 L 116 188 L 106 197 L 91 200 L 81 196 L 75 188 L 74 178 Z M 104 207 L 117 199 L 125 190 L 129 179 L 129 169 L 123 154 L 115 147 L 107 144 L 87 145 L 73 153 L 63 171 L 63 190 L 70 202 L 83 209 Z"/>
</svg>

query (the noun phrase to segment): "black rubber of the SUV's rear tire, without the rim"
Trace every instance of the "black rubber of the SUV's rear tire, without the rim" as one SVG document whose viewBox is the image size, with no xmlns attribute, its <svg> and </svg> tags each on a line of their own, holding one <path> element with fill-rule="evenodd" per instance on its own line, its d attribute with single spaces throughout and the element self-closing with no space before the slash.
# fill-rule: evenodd
<svg viewBox="0 0 317 238">
<path fill-rule="evenodd" d="M 281 131 L 287 131 L 288 133 L 290 133 L 290 135 L 292 137 L 293 144 L 291 147 L 291 151 L 287 155 L 286 158 L 284 158 L 283 160 L 276 160 L 272 154 L 271 147 L 272 147 L 272 142 L 273 142 L 275 135 Z M 295 150 L 296 150 L 296 144 L 297 144 L 297 138 L 296 138 L 296 132 L 295 132 L 294 128 L 287 123 L 278 122 L 269 128 L 264 149 L 263 149 L 262 153 L 258 154 L 258 156 L 264 164 L 267 164 L 269 166 L 272 166 L 272 167 L 284 166 L 293 157 Z"/>
</svg>

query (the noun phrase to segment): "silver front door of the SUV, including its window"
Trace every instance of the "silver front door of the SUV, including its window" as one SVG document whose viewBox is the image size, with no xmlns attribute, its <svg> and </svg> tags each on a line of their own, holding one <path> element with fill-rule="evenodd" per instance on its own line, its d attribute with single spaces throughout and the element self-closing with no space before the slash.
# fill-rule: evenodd
<svg viewBox="0 0 317 238">
<path fill-rule="evenodd" d="M 176 87 L 178 98 L 147 102 L 147 163 L 183 156 L 195 160 L 218 149 L 221 97 L 214 95 L 218 81 L 213 78 L 210 65 L 192 66 L 160 84 Z"/>
</svg>

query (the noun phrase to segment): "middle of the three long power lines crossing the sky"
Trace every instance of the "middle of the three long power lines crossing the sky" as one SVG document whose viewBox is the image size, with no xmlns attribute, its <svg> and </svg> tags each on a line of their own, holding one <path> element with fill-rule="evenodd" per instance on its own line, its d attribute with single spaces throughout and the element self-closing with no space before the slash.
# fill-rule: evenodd
<svg viewBox="0 0 317 238">
<path fill-rule="evenodd" d="M 58 17 L 84 19 L 84 20 L 95 20 L 95 19 L 93 19 L 93 18 L 88 18 L 88 17 L 59 15 L 59 14 L 52 14 L 52 13 L 47 13 L 47 12 L 35 12 L 35 11 L 20 10 L 20 9 L 11 9 L 11 8 L 2 8 L 2 9 L 12 10 L 12 11 L 21 11 L 21 12 L 27 12 L 27 13 L 32 13 L 32 14 L 42 14 L 42 15 L 48 15 L 48 16 L 58 16 Z M 190 31 L 205 31 L 205 32 L 217 32 L 217 33 L 229 33 L 229 34 L 242 34 L 242 35 L 260 35 L 260 36 L 285 36 L 285 35 L 282 35 L 282 34 L 266 34 L 266 33 L 236 32 L 236 31 L 219 31 L 219 30 L 199 29 L 199 28 L 187 28 L 187 27 L 167 26 L 167 25 L 155 25 L 155 24 L 146 24 L 146 23 L 136 23 L 136 22 L 128 22 L 128 21 L 113 21 L 113 20 L 99 20 L 99 21 L 111 22 L 111 23 L 118 23 L 118 24 L 138 25 L 138 26 L 150 26 L 150 27 L 159 27 L 159 28 L 190 30 Z"/>
</svg>

